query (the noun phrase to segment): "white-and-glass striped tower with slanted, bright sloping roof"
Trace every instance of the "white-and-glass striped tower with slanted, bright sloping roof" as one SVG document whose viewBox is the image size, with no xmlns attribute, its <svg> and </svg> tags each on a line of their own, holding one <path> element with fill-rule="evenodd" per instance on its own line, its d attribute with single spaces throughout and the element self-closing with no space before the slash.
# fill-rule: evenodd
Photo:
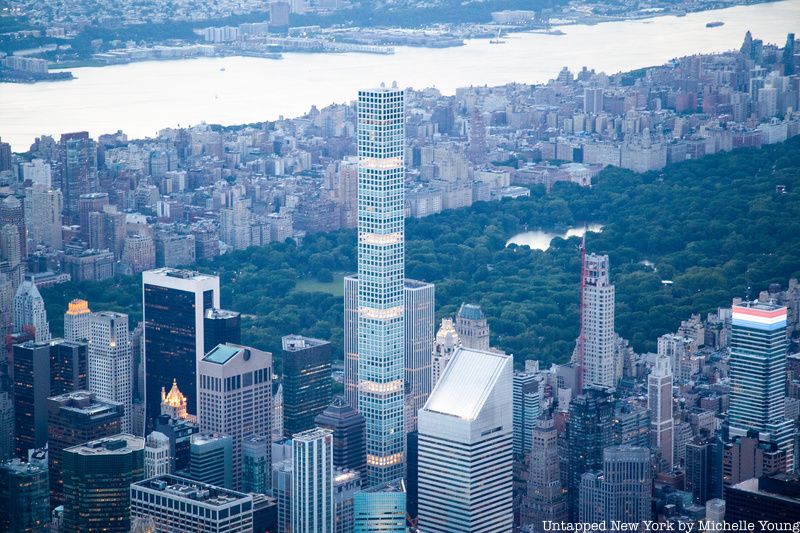
<svg viewBox="0 0 800 533">
<path fill-rule="evenodd" d="M 459 348 L 419 413 L 419 528 L 511 531 L 511 356 Z"/>
</svg>

